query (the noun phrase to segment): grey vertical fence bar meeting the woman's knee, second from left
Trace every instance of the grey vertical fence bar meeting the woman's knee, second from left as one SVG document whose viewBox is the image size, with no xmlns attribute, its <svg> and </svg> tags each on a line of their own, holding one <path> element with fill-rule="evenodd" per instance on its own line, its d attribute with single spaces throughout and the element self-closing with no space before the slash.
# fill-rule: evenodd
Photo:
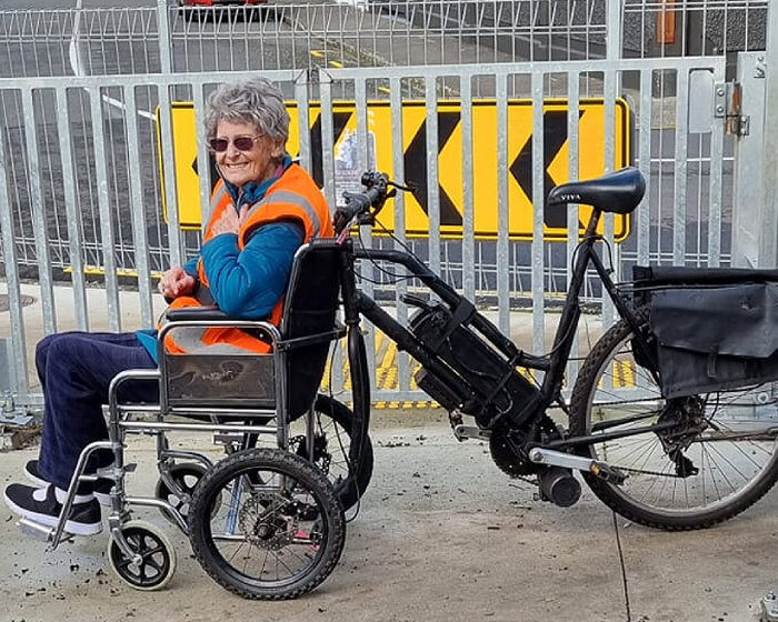
<svg viewBox="0 0 778 622">
<path fill-rule="evenodd" d="M 54 290 L 51 282 L 51 259 L 49 255 L 49 223 L 43 209 L 43 195 L 40 188 L 40 159 L 38 158 L 38 127 L 32 104 L 32 89 L 22 89 L 21 104 L 24 111 L 24 146 L 27 148 L 27 174 L 32 203 L 32 233 L 36 239 L 38 258 L 38 281 L 40 283 L 41 304 L 43 307 L 43 330 L 51 334 L 57 330 L 54 311 Z"/>
</svg>

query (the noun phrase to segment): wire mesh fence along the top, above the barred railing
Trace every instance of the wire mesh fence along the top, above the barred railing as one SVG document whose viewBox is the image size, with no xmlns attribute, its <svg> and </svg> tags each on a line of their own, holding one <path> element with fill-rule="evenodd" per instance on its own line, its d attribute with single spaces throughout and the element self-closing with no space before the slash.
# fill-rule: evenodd
<svg viewBox="0 0 778 622">
<path fill-rule="evenodd" d="M 624 0 L 621 56 L 765 49 L 768 0 Z M 0 77 L 459 64 L 606 57 L 606 0 L 371 0 L 0 11 Z M 166 22 L 160 28 L 160 20 Z"/>
</svg>

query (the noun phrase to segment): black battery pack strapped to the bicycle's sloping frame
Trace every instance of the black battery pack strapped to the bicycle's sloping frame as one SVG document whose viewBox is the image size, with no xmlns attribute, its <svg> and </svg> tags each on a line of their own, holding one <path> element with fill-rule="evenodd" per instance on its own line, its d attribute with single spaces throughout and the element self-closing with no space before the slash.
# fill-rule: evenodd
<svg viewBox="0 0 778 622">
<path fill-rule="evenodd" d="M 463 309 L 469 307 L 463 302 Z M 526 420 L 539 391 L 511 365 L 505 353 L 468 325 L 468 318 L 458 315 L 443 304 L 428 303 L 411 317 L 411 332 L 461 380 L 460 387 L 448 387 L 422 368 L 415 375 L 417 384 L 447 410 L 459 408 L 465 414 L 473 415 L 481 427 L 491 427 L 502 417 L 515 423 Z M 462 394 L 470 399 L 460 404 Z"/>
</svg>

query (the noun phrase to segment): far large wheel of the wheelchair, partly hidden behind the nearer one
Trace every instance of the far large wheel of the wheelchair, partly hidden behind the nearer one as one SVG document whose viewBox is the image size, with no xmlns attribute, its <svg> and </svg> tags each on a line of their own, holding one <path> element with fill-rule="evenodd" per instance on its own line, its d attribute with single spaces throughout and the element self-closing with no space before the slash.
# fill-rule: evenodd
<svg viewBox="0 0 778 622">
<path fill-rule="evenodd" d="M 308 451 L 306 417 L 293 421 L 289 449 L 310 460 L 332 483 L 343 509 L 352 508 L 365 493 L 372 476 L 372 443 L 367 437 L 358 468 L 349 460 L 353 413 L 345 403 L 319 394 L 313 404 L 313 458 Z"/>
</svg>

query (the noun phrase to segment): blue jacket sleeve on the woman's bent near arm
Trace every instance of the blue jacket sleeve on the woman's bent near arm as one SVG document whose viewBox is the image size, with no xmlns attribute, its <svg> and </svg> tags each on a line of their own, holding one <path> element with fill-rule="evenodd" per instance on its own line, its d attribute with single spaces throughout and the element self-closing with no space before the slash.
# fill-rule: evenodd
<svg viewBox="0 0 778 622">
<path fill-rule="evenodd" d="M 219 309 L 239 320 L 268 317 L 287 289 L 303 237 L 299 224 L 278 222 L 257 229 L 242 251 L 233 233 L 203 244 L 200 254 Z"/>
</svg>

